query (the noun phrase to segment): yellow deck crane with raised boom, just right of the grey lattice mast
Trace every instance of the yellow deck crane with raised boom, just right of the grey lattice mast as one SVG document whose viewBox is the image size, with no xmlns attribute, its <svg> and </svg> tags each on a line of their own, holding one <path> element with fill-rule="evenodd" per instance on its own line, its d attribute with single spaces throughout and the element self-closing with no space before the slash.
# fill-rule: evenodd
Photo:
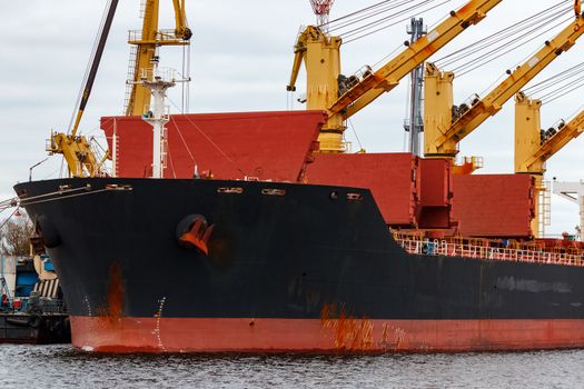
<svg viewBox="0 0 584 389">
<path fill-rule="evenodd" d="M 474 96 L 453 109 L 452 72 L 442 72 L 432 63 L 426 64 L 424 154 L 435 158 L 452 158 L 458 152 L 458 142 L 473 132 L 503 104 L 513 98 L 529 80 L 561 53 L 570 50 L 584 33 L 584 18 L 580 0 L 575 1 L 575 20 L 571 21 L 554 39 L 546 41 L 525 63 L 501 82 L 484 99 Z"/>
</svg>

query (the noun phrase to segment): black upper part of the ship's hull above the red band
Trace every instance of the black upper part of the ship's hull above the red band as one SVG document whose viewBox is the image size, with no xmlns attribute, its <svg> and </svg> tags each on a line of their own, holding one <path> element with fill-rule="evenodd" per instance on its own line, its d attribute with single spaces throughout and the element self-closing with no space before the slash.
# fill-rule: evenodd
<svg viewBox="0 0 584 389">
<path fill-rule="evenodd" d="M 72 191 L 33 200 L 59 186 Z M 408 255 L 366 189 L 107 178 L 16 190 L 75 317 L 584 319 L 584 268 Z M 189 215 L 214 226 L 208 256 L 178 242 Z"/>
</svg>

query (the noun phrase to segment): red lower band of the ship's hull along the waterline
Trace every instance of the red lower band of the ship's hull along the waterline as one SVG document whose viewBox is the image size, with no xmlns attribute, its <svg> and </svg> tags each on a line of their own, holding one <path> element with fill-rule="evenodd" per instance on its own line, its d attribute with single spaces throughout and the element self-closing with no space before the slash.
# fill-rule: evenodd
<svg viewBox="0 0 584 389">
<path fill-rule="evenodd" d="M 461 352 L 584 348 L 584 320 L 72 317 L 72 343 L 101 352 Z"/>
</svg>

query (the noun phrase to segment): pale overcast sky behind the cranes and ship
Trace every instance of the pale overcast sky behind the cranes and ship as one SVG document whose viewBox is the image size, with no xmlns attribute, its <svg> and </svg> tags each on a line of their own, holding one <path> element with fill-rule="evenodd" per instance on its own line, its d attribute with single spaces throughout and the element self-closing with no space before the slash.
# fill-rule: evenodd
<svg viewBox="0 0 584 389">
<path fill-rule="evenodd" d="M 29 0 L 2 3 L 0 13 L 0 200 L 12 193 L 12 184 L 28 179 L 29 167 L 46 158 L 44 144 L 51 129 L 66 130 L 96 38 L 105 0 Z M 331 19 L 377 1 L 337 0 Z M 441 1 L 437 1 L 439 3 Z M 423 17 L 432 27 L 449 10 L 465 1 L 453 0 Z M 465 31 L 436 57 L 468 44 L 558 0 L 503 1 L 478 26 Z M 566 6 L 572 0 L 564 1 Z M 92 96 L 81 123 L 85 134 L 100 136 L 99 118 L 122 111 L 129 47 L 127 30 L 139 29 L 139 0 L 120 1 Z M 528 4 L 528 6 L 527 6 Z M 187 0 L 189 26 L 194 31 L 190 51 L 190 111 L 285 110 L 293 46 L 301 24 L 315 22 L 308 0 Z M 419 16 L 419 14 L 412 14 Z M 567 16 L 567 14 L 566 14 Z M 160 28 L 172 28 L 171 1 L 161 1 Z M 374 64 L 394 52 L 406 38 L 406 22 L 342 47 L 343 72 L 350 74 L 364 64 Z M 555 30 L 557 32 L 557 29 Z M 455 102 L 474 92 L 485 96 L 512 69 L 528 58 L 553 31 L 511 54 L 455 79 Z M 584 41 L 584 39 L 583 39 Z M 542 80 L 583 62 L 584 42 L 550 66 L 534 80 Z M 169 48 L 160 53 L 164 66 L 180 68 L 181 51 Z M 448 69 L 446 69 L 448 70 Z M 532 83 L 533 83 L 532 82 Z M 304 91 L 304 73 L 298 97 Z M 368 152 L 404 151 L 403 120 L 407 80 L 352 119 L 362 146 Z M 180 104 L 178 93 L 170 99 Z M 566 96 L 542 109 L 542 126 L 570 119 L 583 109 L 582 91 Z M 296 103 L 295 109 L 303 109 Z M 482 156 L 483 173 L 513 171 L 513 101 L 481 126 L 461 144 L 462 156 Z M 358 149 L 350 130 L 348 140 Z M 572 141 L 547 163 L 547 178 L 577 181 L 584 176 L 584 137 Z M 34 179 L 56 178 L 61 158 L 52 157 L 33 172 Z M 485 188 L 488 190 L 488 188 Z M 578 209 L 558 197 L 552 198 L 548 232 L 573 231 Z M 0 215 L 2 217 L 4 215 Z"/>
</svg>

